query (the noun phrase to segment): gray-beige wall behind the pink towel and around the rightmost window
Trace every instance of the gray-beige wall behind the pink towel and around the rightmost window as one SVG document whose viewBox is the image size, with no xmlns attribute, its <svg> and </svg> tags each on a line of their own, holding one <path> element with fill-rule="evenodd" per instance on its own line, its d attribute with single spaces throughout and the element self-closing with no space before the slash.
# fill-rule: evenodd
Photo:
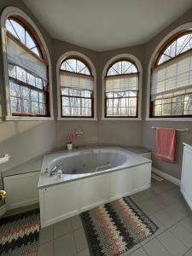
<svg viewBox="0 0 192 256">
<path fill-rule="evenodd" d="M 150 60 L 151 55 L 154 52 L 156 46 L 160 43 L 160 41 L 166 37 L 169 32 L 172 32 L 173 29 L 177 28 L 177 26 L 182 25 L 183 23 L 192 22 L 192 9 L 190 9 L 186 14 L 181 16 L 175 22 L 172 23 L 171 26 L 168 26 L 164 31 L 160 32 L 157 37 L 152 39 L 148 44 L 146 44 L 146 55 L 145 55 L 145 65 L 144 73 L 145 79 L 143 84 L 143 109 L 146 109 L 146 92 L 147 92 L 147 73 L 148 73 L 148 62 Z M 143 112 L 145 116 L 145 112 Z M 167 121 L 145 121 L 143 125 L 143 146 L 153 150 L 154 152 L 154 131 L 151 130 L 151 126 L 173 126 L 176 128 L 189 128 L 190 132 L 177 132 L 177 148 L 176 148 L 176 163 L 172 164 L 163 160 L 157 159 L 153 154 L 153 162 L 154 166 L 160 169 L 163 172 L 166 172 L 173 177 L 180 178 L 181 170 L 182 170 L 182 158 L 183 158 L 183 142 L 189 142 L 192 140 L 192 122 L 167 122 Z"/>
</svg>

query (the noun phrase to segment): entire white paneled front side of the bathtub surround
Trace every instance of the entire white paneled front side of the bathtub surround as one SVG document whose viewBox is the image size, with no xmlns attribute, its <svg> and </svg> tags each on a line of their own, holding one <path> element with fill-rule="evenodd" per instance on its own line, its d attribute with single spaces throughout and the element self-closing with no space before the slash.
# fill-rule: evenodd
<svg viewBox="0 0 192 256">
<path fill-rule="evenodd" d="M 151 164 L 39 189 L 41 227 L 150 187 Z"/>
</svg>

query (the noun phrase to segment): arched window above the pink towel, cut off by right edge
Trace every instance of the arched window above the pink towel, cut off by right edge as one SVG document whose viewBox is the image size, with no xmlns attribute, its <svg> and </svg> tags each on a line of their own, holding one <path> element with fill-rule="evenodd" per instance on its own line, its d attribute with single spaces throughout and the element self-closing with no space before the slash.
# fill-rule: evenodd
<svg viewBox="0 0 192 256">
<path fill-rule="evenodd" d="M 150 117 L 192 116 L 192 32 L 178 32 L 154 58 Z"/>
</svg>

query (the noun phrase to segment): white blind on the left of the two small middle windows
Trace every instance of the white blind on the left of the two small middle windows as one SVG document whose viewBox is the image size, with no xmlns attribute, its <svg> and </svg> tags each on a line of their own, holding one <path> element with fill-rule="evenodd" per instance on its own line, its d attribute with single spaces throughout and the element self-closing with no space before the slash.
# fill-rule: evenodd
<svg viewBox="0 0 192 256">
<path fill-rule="evenodd" d="M 61 71 L 61 87 L 73 88 L 76 90 L 93 90 L 93 78 L 74 73 Z"/>
</svg>

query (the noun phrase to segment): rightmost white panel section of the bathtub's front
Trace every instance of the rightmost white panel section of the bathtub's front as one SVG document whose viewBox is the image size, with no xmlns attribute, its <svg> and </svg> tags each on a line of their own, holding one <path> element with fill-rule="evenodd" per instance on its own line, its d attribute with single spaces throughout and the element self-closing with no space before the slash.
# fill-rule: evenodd
<svg viewBox="0 0 192 256">
<path fill-rule="evenodd" d="M 151 164 L 127 168 L 111 173 L 109 200 L 115 200 L 125 195 L 150 187 Z"/>
</svg>

